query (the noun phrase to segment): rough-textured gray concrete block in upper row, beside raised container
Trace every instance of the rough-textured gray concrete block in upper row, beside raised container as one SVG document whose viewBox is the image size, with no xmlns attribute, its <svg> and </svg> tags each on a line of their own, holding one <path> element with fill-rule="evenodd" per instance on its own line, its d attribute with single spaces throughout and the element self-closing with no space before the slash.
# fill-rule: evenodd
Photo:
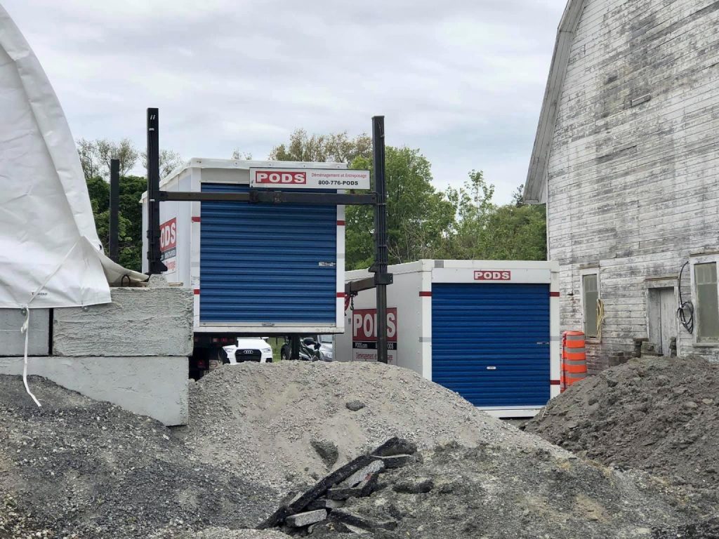
<svg viewBox="0 0 719 539">
<path fill-rule="evenodd" d="M 111 289 L 112 303 L 55 309 L 58 356 L 189 356 L 193 295 L 182 287 Z"/>
</svg>

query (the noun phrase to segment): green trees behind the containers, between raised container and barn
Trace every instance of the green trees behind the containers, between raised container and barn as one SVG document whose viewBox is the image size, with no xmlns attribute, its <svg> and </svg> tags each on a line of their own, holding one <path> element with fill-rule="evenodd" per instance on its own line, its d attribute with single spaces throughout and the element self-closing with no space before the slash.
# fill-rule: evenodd
<svg viewBox="0 0 719 539">
<path fill-rule="evenodd" d="M 372 170 L 372 140 L 365 134 L 310 136 L 296 129 L 270 159 L 346 162 Z M 521 186 L 513 203 L 497 206 L 494 185 L 482 171 L 472 170 L 461 188 L 442 193 L 431 183 L 426 157 L 406 147 L 385 149 L 385 170 L 390 264 L 421 258 L 546 259 L 544 207 L 523 206 Z M 347 206 L 345 211 L 347 269 L 369 267 L 375 257 L 373 208 Z"/>
</svg>

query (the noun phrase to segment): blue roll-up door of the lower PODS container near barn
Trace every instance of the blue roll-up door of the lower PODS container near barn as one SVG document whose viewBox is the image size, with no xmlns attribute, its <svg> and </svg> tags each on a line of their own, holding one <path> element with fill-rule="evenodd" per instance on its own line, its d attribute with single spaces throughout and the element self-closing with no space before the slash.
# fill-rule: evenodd
<svg viewBox="0 0 719 539">
<path fill-rule="evenodd" d="M 549 400 L 549 285 L 432 285 L 432 380 L 475 406 Z"/>
</svg>

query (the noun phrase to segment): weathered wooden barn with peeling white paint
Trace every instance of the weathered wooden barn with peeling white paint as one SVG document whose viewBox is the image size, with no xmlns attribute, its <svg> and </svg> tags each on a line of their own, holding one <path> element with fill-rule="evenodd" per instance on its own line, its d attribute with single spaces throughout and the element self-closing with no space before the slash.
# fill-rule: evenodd
<svg viewBox="0 0 719 539">
<path fill-rule="evenodd" d="M 719 1 L 569 0 L 524 198 L 590 372 L 719 360 Z"/>
</svg>

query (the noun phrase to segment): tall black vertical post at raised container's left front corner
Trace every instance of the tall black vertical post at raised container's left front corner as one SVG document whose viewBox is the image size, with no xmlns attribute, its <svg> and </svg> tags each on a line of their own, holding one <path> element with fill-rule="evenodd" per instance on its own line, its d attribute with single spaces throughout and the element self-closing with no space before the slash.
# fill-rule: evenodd
<svg viewBox="0 0 719 539">
<path fill-rule="evenodd" d="M 160 260 L 159 111 L 147 109 L 147 275 L 167 271 Z"/>
</svg>

